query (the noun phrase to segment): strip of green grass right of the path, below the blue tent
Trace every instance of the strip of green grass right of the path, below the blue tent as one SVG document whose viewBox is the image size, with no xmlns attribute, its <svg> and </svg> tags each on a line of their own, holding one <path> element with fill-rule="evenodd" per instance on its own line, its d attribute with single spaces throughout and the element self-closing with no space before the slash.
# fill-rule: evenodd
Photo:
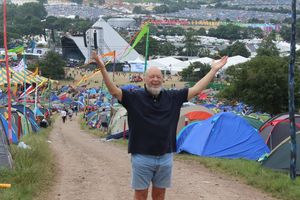
<svg viewBox="0 0 300 200">
<path fill-rule="evenodd" d="M 258 162 L 242 159 L 203 158 L 187 154 L 178 154 L 179 160 L 196 162 L 211 171 L 225 173 L 238 178 L 252 187 L 269 193 L 271 196 L 284 200 L 300 199 L 300 179 L 289 178 L 287 172 L 276 172 L 261 166 Z"/>
</svg>

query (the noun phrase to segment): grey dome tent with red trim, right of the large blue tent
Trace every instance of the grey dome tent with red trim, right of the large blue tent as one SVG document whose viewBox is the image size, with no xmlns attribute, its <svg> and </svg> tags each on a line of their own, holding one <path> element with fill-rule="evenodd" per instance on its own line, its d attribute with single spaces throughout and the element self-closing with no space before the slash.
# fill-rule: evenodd
<svg viewBox="0 0 300 200">
<path fill-rule="evenodd" d="M 300 131 L 300 115 L 295 116 L 296 131 Z M 270 150 L 290 136 L 288 114 L 280 114 L 265 122 L 260 127 L 260 134 Z"/>
</svg>

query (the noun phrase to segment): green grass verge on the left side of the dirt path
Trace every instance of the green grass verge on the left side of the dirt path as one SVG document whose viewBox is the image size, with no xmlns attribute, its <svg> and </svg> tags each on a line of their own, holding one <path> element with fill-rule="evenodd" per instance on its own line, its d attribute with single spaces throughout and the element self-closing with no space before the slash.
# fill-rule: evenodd
<svg viewBox="0 0 300 200">
<path fill-rule="evenodd" d="M 10 183 L 12 187 L 0 189 L 1 200 L 31 200 L 51 186 L 55 174 L 53 155 L 47 143 L 51 129 L 41 129 L 38 134 L 22 137 L 31 149 L 11 145 L 14 167 L 0 170 L 0 182 Z"/>
</svg>

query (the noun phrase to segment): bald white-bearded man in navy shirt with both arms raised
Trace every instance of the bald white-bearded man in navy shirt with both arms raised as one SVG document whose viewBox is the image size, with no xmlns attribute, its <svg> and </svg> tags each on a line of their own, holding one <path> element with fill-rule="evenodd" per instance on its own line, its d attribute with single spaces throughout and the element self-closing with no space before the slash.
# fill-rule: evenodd
<svg viewBox="0 0 300 200">
<path fill-rule="evenodd" d="M 176 127 L 182 104 L 200 94 L 227 63 L 227 56 L 213 62 L 211 70 L 193 87 L 164 90 L 163 75 L 157 67 L 145 73 L 144 90 L 126 91 L 109 79 L 105 65 L 93 52 L 110 94 L 127 109 L 132 180 L 135 200 L 146 200 L 152 183 L 152 199 L 164 200 L 171 187 L 173 152 L 176 151 Z"/>
</svg>

